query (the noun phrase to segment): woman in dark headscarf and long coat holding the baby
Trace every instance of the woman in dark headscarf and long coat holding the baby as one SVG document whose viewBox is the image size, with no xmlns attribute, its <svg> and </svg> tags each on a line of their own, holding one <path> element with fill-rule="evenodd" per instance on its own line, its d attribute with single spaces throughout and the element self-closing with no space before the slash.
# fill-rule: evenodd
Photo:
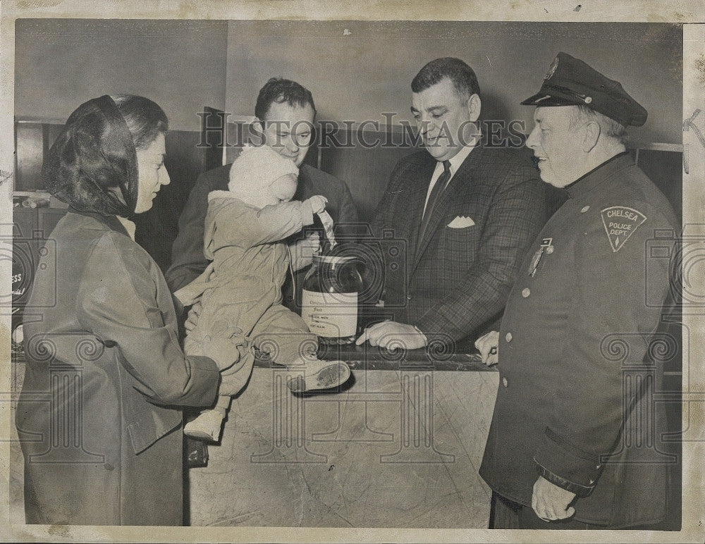
<svg viewBox="0 0 705 544">
<path fill-rule="evenodd" d="M 71 114 L 44 161 L 47 189 L 69 209 L 39 261 L 27 303 L 36 321 L 24 325 L 27 523 L 183 523 L 180 409 L 214 402 L 236 352 L 226 338 L 206 357 L 183 354 L 180 303 L 134 242 L 130 218 L 169 183 L 167 128 L 151 100 L 106 95 Z"/>
</svg>

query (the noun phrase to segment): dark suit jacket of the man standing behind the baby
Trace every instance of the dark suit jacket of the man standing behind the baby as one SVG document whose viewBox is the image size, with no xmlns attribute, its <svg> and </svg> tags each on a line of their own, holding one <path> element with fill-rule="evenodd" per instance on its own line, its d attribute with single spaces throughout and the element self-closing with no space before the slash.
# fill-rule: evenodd
<svg viewBox="0 0 705 544">
<path fill-rule="evenodd" d="M 215 190 L 228 190 L 230 168 L 231 165 L 228 164 L 203 173 L 198 177 L 189 194 L 188 202 L 178 221 L 178 236 L 172 247 L 171 266 L 165 274 L 172 292 L 194 280 L 208 264 L 203 254 L 208 193 Z M 303 164 L 299 170 L 299 183 L 294 199 L 305 200 L 314 194 L 321 194 L 328 199 L 326 211 L 331 214 L 336 225 L 340 225 L 336 233 L 347 236 L 353 230 L 353 225 L 357 223 L 357 209 L 348 185 L 330 174 Z M 296 275 L 298 290 L 303 280 L 302 272 Z M 290 286 L 285 289 L 285 293 L 284 302 L 288 307 L 292 307 Z"/>
</svg>

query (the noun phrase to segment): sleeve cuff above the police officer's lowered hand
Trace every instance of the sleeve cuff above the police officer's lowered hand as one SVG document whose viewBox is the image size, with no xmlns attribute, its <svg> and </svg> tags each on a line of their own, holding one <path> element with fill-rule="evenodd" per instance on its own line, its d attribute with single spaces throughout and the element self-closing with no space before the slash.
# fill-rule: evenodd
<svg viewBox="0 0 705 544">
<path fill-rule="evenodd" d="M 534 462 L 540 476 L 578 497 L 591 493 L 602 471 L 598 456 L 580 450 L 548 427 Z"/>
</svg>

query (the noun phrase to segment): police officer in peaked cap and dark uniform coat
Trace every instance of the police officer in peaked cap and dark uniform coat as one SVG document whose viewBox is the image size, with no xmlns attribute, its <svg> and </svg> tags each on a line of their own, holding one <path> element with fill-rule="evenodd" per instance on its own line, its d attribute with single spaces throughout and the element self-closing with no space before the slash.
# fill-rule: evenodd
<svg viewBox="0 0 705 544">
<path fill-rule="evenodd" d="M 654 446 L 663 414 L 653 384 L 664 357 L 649 342 L 669 264 L 647 263 L 646 249 L 668 251 L 678 230 L 625 149 L 627 125 L 643 125 L 646 111 L 565 53 L 522 104 L 537 106 L 527 146 L 541 178 L 568 200 L 530 247 L 499 333 L 477 342 L 500 375 L 480 467 L 494 490 L 493 527 L 656 523 L 667 459 Z"/>
</svg>

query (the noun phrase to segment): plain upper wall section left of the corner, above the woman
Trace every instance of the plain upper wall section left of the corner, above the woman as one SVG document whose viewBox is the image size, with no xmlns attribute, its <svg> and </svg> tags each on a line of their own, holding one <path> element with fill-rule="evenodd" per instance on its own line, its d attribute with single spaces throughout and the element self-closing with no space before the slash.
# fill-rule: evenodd
<svg viewBox="0 0 705 544">
<path fill-rule="evenodd" d="M 61 120 L 102 94 L 140 94 L 179 130 L 225 106 L 227 23 L 209 20 L 18 19 L 15 115 Z"/>
</svg>

